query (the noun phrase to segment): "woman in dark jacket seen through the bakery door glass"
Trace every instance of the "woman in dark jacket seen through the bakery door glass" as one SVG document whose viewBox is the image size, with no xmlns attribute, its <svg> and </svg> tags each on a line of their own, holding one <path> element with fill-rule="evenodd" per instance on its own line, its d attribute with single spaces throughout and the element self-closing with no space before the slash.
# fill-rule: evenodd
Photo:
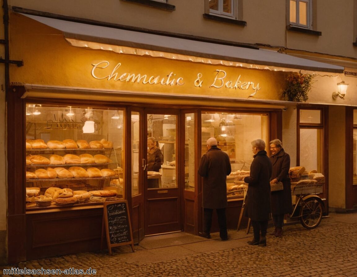
<svg viewBox="0 0 357 277">
<path fill-rule="evenodd" d="M 164 163 L 164 156 L 159 147 L 155 137 L 147 138 L 147 171 L 159 172 L 162 164 Z M 158 179 L 148 179 L 148 188 L 159 188 Z"/>
</svg>

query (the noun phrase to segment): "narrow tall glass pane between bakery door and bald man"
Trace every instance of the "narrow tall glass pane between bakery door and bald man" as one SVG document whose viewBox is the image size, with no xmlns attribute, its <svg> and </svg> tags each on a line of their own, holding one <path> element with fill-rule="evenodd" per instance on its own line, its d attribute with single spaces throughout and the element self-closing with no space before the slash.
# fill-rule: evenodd
<svg viewBox="0 0 357 277">
<path fill-rule="evenodd" d="M 195 114 L 185 115 L 185 189 L 195 190 Z"/>
</svg>

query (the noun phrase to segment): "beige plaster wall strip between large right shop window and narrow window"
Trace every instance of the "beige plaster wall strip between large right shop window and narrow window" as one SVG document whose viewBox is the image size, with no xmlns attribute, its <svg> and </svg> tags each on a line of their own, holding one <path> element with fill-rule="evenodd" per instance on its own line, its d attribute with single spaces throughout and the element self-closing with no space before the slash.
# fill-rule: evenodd
<svg viewBox="0 0 357 277">
<path fill-rule="evenodd" d="M 286 153 L 290 155 L 290 167 L 296 166 L 296 107 L 289 106 L 283 111 L 282 143 Z"/>
</svg>

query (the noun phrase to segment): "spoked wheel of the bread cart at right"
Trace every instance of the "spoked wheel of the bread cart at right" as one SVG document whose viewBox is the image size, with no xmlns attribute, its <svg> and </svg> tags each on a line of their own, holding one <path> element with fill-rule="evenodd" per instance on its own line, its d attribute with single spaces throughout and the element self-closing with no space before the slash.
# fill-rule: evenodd
<svg viewBox="0 0 357 277">
<path fill-rule="evenodd" d="M 322 219 L 323 207 L 316 199 L 307 199 L 301 204 L 301 225 L 306 229 L 316 228 Z"/>
</svg>

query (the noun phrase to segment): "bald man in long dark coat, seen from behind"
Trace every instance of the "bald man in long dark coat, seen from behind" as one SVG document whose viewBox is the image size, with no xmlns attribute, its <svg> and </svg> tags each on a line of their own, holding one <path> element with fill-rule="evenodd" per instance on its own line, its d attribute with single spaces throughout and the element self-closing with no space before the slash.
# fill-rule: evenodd
<svg viewBox="0 0 357 277">
<path fill-rule="evenodd" d="M 227 175 L 231 173 L 231 163 L 227 153 L 217 147 L 217 140 L 207 140 L 207 153 L 202 156 L 198 174 L 203 177 L 203 236 L 211 237 L 213 209 L 216 209 L 221 240 L 227 240 Z"/>
</svg>

